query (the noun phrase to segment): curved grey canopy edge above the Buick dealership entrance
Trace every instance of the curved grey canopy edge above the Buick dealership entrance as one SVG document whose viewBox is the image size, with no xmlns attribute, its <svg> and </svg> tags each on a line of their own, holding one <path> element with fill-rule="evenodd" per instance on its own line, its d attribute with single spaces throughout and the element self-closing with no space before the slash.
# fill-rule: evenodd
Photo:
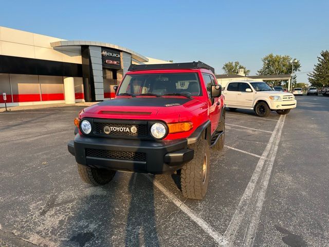
<svg viewBox="0 0 329 247">
<path fill-rule="evenodd" d="M 139 62 L 148 62 L 149 59 L 147 57 L 144 57 L 137 52 L 127 49 L 125 47 L 104 43 L 104 42 L 96 42 L 96 41 L 84 41 L 84 40 L 63 40 L 63 41 L 56 41 L 50 43 L 51 47 L 62 47 L 62 46 L 82 46 L 82 45 L 93 45 L 93 46 L 101 46 L 101 47 L 107 47 L 112 49 L 121 50 L 124 52 L 127 52 L 132 55 L 132 58 L 139 61 Z"/>
</svg>

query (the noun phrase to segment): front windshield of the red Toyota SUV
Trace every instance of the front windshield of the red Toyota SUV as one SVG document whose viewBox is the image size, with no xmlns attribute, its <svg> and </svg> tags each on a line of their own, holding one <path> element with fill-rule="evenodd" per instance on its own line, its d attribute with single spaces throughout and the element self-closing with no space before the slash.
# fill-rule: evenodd
<svg viewBox="0 0 329 247">
<path fill-rule="evenodd" d="M 126 75 L 117 95 L 200 96 L 200 83 L 197 73 L 156 73 Z"/>
</svg>

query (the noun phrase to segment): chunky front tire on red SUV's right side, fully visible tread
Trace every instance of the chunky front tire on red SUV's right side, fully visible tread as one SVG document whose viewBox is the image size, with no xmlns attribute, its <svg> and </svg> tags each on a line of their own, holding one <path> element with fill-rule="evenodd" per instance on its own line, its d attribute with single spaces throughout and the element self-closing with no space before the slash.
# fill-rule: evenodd
<svg viewBox="0 0 329 247">
<path fill-rule="evenodd" d="M 207 140 L 200 139 L 189 148 L 194 149 L 194 158 L 181 168 L 181 192 L 187 198 L 201 200 L 206 196 L 209 183 L 209 145 Z"/>
</svg>

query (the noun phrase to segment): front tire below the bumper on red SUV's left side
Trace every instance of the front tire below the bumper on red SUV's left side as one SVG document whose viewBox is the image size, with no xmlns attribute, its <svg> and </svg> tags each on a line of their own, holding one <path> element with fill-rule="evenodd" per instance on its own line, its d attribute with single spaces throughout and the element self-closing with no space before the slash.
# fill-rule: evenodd
<svg viewBox="0 0 329 247">
<path fill-rule="evenodd" d="M 84 182 L 95 186 L 107 184 L 116 173 L 116 171 L 92 168 L 81 164 L 78 164 L 78 171 Z"/>
</svg>

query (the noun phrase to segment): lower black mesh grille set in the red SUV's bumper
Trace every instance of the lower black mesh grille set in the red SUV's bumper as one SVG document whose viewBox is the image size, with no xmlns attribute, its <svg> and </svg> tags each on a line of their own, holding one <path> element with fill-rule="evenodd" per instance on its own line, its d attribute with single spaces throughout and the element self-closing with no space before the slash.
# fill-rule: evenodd
<svg viewBox="0 0 329 247">
<path fill-rule="evenodd" d="M 86 149 L 86 156 L 98 158 L 113 158 L 114 160 L 125 161 L 146 161 L 146 153 L 123 152 L 103 149 Z"/>
</svg>

